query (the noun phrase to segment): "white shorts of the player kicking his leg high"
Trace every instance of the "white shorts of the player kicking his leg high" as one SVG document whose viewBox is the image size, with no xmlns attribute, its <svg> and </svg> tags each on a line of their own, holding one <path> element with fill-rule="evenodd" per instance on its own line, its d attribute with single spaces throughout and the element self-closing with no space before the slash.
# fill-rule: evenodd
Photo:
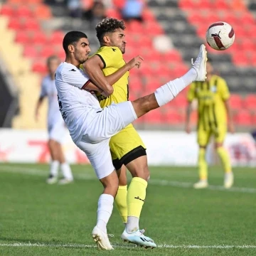
<svg viewBox="0 0 256 256">
<path fill-rule="evenodd" d="M 84 134 L 76 145 L 85 152 L 97 178 L 105 178 L 114 171 L 110 154 L 110 138 L 137 119 L 132 102 L 122 102 L 95 112 L 90 132 Z"/>
</svg>

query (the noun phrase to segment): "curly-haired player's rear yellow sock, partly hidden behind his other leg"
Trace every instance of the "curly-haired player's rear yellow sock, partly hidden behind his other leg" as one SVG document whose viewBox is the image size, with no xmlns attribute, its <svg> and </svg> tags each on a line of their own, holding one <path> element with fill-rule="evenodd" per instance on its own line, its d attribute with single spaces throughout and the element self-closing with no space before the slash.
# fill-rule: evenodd
<svg viewBox="0 0 256 256">
<path fill-rule="evenodd" d="M 119 186 L 114 204 L 122 218 L 123 223 L 127 223 L 127 186 Z"/>
</svg>

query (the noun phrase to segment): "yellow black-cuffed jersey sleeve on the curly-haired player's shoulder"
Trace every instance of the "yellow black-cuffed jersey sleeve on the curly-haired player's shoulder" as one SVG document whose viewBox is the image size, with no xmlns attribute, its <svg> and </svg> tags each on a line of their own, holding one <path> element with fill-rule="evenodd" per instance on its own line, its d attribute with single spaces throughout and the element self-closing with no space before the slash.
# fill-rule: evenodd
<svg viewBox="0 0 256 256">
<path fill-rule="evenodd" d="M 106 47 L 96 55 L 102 60 L 104 68 L 115 67 L 122 61 L 122 53 L 118 48 Z"/>
</svg>

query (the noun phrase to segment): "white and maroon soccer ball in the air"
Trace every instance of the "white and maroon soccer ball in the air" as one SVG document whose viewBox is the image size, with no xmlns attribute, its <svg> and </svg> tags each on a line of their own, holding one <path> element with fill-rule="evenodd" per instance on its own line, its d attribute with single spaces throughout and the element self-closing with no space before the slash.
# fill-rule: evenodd
<svg viewBox="0 0 256 256">
<path fill-rule="evenodd" d="M 215 50 L 226 50 L 235 41 L 235 31 L 230 24 L 224 21 L 215 22 L 206 32 L 206 41 Z"/>
</svg>

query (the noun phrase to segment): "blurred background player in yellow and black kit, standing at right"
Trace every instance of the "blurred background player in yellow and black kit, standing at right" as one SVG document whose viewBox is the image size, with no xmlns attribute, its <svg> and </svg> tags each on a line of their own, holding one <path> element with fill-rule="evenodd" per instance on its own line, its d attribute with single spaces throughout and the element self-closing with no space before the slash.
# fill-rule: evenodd
<svg viewBox="0 0 256 256">
<path fill-rule="evenodd" d="M 233 172 L 228 151 L 223 147 L 227 132 L 234 132 L 230 110 L 230 92 L 223 78 L 213 73 L 210 60 L 207 62 L 207 79 L 205 82 L 193 82 L 188 90 L 188 107 L 186 117 L 186 132 L 191 132 L 191 110 L 193 100 L 198 100 L 197 137 L 199 144 L 198 168 L 199 181 L 194 188 L 208 187 L 208 164 L 206 161 L 206 146 L 213 135 L 215 150 L 220 157 L 225 171 L 224 187 L 233 185 Z"/>
</svg>

